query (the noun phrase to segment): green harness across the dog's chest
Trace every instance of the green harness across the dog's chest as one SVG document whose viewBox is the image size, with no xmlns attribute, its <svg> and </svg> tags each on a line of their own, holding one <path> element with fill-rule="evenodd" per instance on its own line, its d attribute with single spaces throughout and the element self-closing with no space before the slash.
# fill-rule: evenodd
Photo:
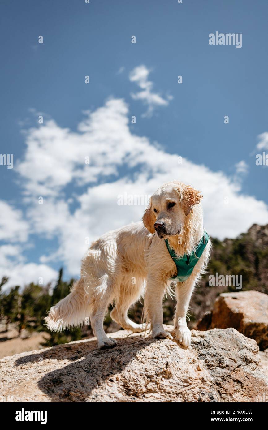
<svg viewBox="0 0 268 430">
<path fill-rule="evenodd" d="M 197 264 L 197 261 L 203 254 L 203 251 L 206 248 L 206 244 L 208 243 L 208 241 L 209 235 L 206 230 L 204 230 L 203 237 L 198 243 L 197 247 L 194 249 L 194 251 L 192 251 L 190 255 L 184 254 L 182 257 L 177 257 L 174 249 L 169 247 L 168 239 L 165 239 L 166 247 L 177 267 L 177 275 L 172 278 L 169 278 L 169 280 L 176 282 L 186 281 L 194 270 L 194 266 Z"/>
</svg>

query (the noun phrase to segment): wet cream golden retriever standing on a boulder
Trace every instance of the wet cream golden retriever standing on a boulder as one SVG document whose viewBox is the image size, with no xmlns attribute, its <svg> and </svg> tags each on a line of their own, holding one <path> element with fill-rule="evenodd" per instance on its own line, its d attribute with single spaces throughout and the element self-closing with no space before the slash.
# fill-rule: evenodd
<svg viewBox="0 0 268 430">
<path fill-rule="evenodd" d="M 202 195 L 190 185 L 172 181 L 163 184 L 150 200 L 143 222 L 110 231 L 92 243 L 82 260 L 80 280 L 67 297 L 49 310 L 48 329 L 61 331 L 82 325 L 89 317 L 98 348 L 112 348 L 117 343 L 103 329 L 109 304 L 115 304 L 111 318 L 123 329 L 143 332 L 142 324 L 129 319 L 128 310 L 144 296 L 143 317 L 146 326 L 151 326 L 151 336 L 173 339 L 163 327 L 162 301 L 175 279 L 173 335 L 182 347 L 190 346 L 188 306 L 211 249 L 209 237 L 203 246 Z M 196 255 L 198 244 L 204 248 L 200 257 Z M 194 258 L 191 273 L 174 278 L 179 270 L 177 262 L 185 258 L 188 264 L 191 256 Z"/>
</svg>

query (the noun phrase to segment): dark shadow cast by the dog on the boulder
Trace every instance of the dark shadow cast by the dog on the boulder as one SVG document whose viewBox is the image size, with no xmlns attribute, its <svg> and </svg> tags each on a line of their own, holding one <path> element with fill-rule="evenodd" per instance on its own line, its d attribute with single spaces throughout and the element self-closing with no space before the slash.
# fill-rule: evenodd
<svg viewBox="0 0 268 430">
<path fill-rule="evenodd" d="M 85 402 L 89 396 L 90 402 L 98 402 L 100 392 L 102 392 L 102 396 L 104 392 L 106 393 L 106 397 L 102 401 L 108 402 L 109 387 L 116 383 L 117 375 L 126 368 L 129 362 L 139 359 L 139 351 L 154 342 L 157 340 L 139 335 L 132 338 L 117 338 L 117 346 L 108 350 L 96 350 L 96 341 L 92 340 L 80 342 L 79 345 L 64 345 L 62 353 L 67 349 L 64 359 L 74 362 L 65 365 L 62 369 L 47 373 L 38 382 L 38 387 L 51 398 L 52 402 Z M 158 342 L 163 342 L 163 340 Z M 69 347 L 71 349 L 68 350 Z M 49 357 L 49 355 L 51 356 Z M 24 358 L 30 359 L 30 357 Z M 55 353 L 52 348 L 50 351 L 33 356 L 34 360 L 40 360 L 40 358 L 63 359 L 59 346 Z M 127 394 L 126 401 L 139 401 L 135 396 L 131 397 L 131 388 L 127 384 L 121 388 Z M 94 391 L 95 394 L 92 395 Z M 116 393 L 111 393 L 113 401 L 114 395 Z M 118 395 L 122 397 L 119 393 Z"/>
</svg>

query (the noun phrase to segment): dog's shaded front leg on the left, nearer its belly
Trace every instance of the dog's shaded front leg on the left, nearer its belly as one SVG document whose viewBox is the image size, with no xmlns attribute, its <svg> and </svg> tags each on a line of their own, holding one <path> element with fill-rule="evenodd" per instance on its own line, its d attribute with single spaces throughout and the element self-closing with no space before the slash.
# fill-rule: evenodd
<svg viewBox="0 0 268 430">
<path fill-rule="evenodd" d="M 163 327 L 163 307 L 162 301 L 165 286 L 159 280 L 148 277 L 144 301 L 144 316 L 147 322 L 151 322 L 151 336 L 157 339 L 169 338 L 173 336 L 166 332 Z"/>
</svg>

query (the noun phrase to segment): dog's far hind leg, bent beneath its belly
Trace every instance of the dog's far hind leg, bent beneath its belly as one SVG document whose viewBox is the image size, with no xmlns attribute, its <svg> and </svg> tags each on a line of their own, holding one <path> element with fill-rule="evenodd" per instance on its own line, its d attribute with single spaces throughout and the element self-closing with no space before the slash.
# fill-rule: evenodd
<svg viewBox="0 0 268 430">
<path fill-rule="evenodd" d="M 117 322 L 123 329 L 131 330 L 134 333 L 140 333 L 144 331 L 142 324 L 137 324 L 136 322 L 129 319 L 127 316 L 129 307 L 134 304 L 142 294 L 143 279 L 136 279 L 136 284 L 127 285 L 130 283 L 129 279 L 120 285 L 120 295 L 116 299 L 116 304 L 114 309 L 111 311 L 111 318 Z"/>
</svg>

